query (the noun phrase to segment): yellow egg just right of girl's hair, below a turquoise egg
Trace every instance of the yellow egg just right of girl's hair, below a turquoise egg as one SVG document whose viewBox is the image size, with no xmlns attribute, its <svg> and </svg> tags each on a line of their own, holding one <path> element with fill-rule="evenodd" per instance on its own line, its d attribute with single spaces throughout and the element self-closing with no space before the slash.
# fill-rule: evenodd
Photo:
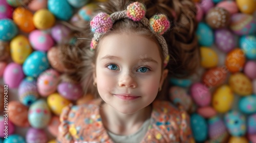
<svg viewBox="0 0 256 143">
<path fill-rule="evenodd" d="M 200 47 L 201 52 L 201 65 L 204 68 L 215 67 L 218 64 L 218 55 L 209 47 Z"/>
</svg>

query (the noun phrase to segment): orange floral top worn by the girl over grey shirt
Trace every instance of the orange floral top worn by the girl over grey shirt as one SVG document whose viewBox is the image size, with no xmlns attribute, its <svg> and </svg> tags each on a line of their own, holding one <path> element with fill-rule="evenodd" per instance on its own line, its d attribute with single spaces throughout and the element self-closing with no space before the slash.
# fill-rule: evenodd
<svg viewBox="0 0 256 143">
<path fill-rule="evenodd" d="M 99 100 L 62 110 L 57 142 L 114 142 L 101 122 Z M 167 101 L 154 101 L 150 126 L 141 143 L 195 142 L 188 114 Z"/>
</svg>

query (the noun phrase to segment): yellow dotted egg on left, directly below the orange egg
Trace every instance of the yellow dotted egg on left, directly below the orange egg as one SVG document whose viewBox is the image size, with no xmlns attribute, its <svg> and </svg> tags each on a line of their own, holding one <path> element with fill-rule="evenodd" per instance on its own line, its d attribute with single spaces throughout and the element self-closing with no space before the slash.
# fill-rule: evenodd
<svg viewBox="0 0 256 143">
<path fill-rule="evenodd" d="M 18 35 L 10 42 L 11 57 L 15 63 L 23 64 L 32 52 L 32 47 L 27 37 Z"/>
</svg>

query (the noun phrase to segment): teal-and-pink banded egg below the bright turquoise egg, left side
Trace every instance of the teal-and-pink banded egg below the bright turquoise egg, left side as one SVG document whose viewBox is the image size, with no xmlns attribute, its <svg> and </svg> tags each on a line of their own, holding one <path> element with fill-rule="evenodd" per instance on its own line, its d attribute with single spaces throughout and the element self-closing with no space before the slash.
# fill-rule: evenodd
<svg viewBox="0 0 256 143">
<path fill-rule="evenodd" d="M 30 106 L 39 97 L 36 81 L 32 77 L 26 77 L 18 87 L 19 101 L 26 106 Z"/>
</svg>

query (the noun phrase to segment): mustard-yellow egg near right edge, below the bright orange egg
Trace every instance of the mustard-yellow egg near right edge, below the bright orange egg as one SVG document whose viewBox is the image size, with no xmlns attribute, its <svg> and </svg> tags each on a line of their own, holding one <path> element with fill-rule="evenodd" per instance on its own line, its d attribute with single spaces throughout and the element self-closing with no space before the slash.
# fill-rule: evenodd
<svg viewBox="0 0 256 143">
<path fill-rule="evenodd" d="M 234 93 L 240 96 L 248 96 L 252 93 L 252 83 L 248 77 L 242 73 L 236 73 L 229 77 L 229 85 Z"/>
</svg>

